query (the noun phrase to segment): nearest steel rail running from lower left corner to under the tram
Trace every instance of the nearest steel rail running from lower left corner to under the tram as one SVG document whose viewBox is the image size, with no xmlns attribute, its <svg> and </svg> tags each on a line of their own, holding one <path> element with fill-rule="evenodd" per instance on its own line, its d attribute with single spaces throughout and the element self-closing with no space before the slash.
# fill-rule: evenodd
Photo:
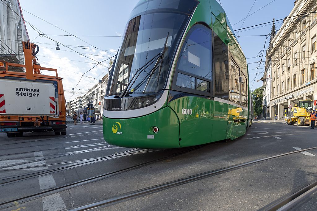
<svg viewBox="0 0 317 211">
<path fill-rule="evenodd" d="M 92 183 L 92 182 L 97 182 L 99 180 L 106 179 L 106 178 L 111 177 L 111 176 L 115 176 L 115 175 L 118 175 L 118 174 L 121 174 L 121 173 L 125 173 L 125 172 L 133 170 L 133 169 L 141 168 L 141 167 L 149 165 L 151 163 L 155 163 L 155 162 L 158 162 L 158 161 L 161 161 L 161 160 L 169 159 L 169 158 L 172 158 L 172 157 L 176 157 L 176 156 L 191 152 L 193 150 L 197 150 L 199 148 L 204 147 L 205 145 L 206 144 L 195 146 L 195 147 L 189 147 L 189 148 L 186 148 L 186 150 L 184 150 L 184 151 L 177 152 L 177 153 L 165 156 L 165 157 L 160 157 L 159 159 L 155 159 L 155 160 L 152 160 L 152 161 L 147 161 L 147 162 L 135 164 L 133 166 L 130 166 L 130 167 L 127 167 L 127 168 L 124 168 L 124 169 L 119 169 L 119 170 L 116 170 L 116 171 L 113 171 L 113 172 L 108 172 L 108 173 L 101 174 L 101 175 L 98 175 L 98 176 L 82 179 L 82 180 L 79 180 L 79 181 L 76 181 L 76 182 L 65 184 L 65 185 L 62 185 L 62 186 L 59 186 L 59 187 L 56 187 L 56 188 L 52 188 L 52 189 L 49 189 L 49 190 L 41 191 L 39 193 L 34 193 L 34 194 L 31 194 L 31 195 L 28 195 L 28 196 L 16 198 L 16 199 L 13 199 L 13 200 L 10 200 L 10 201 L 4 201 L 4 202 L 0 203 L 0 209 L 12 207 L 12 206 L 15 205 L 15 202 L 18 202 L 18 203 L 21 204 L 21 203 L 32 201 L 32 200 L 35 200 L 37 198 L 41 198 L 41 197 L 44 197 L 44 196 L 47 196 L 47 195 L 51 195 L 51 194 L 54 194 L 54 193 L 59 193 L 61 191 L 67 190 L 67 189 L 75 188 L 75 187 L 78 187 L 78 186 L 81 186 L 81 185 L 85 185 L 85 184 L 88 184 L 88 183 Z M 132 149 L 132 150 L 136 150 L 136 149 Z M 127 150 L 127 151 L 131 151 L 131 150 Z M 125 151 L 125 152 L 127 152 L 127 151 Z"/>
</svg>

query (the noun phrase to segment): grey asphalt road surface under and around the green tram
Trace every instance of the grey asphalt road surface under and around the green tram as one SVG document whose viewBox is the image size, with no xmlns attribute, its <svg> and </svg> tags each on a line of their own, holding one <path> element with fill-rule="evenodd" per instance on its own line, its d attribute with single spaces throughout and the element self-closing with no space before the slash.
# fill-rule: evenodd
<svg viewBox="0 0 317 211">
<path fill-rule="evenodd" d="M 0 134 L 0 209 L 59 211 L 100 202 L 93 210 L 266 210 L 317 176 L 317 149 L 311 149 L 126 197 L 215 169 L 317 148 L 317 128 L 255 122 L 246 135 L 227 143 L 141 150 L 107 144 L 99 125 L 68 126 L 66 136 Z M 316 210 L 316 199 L 313 193 L 293 209 Z"/>
</svg>

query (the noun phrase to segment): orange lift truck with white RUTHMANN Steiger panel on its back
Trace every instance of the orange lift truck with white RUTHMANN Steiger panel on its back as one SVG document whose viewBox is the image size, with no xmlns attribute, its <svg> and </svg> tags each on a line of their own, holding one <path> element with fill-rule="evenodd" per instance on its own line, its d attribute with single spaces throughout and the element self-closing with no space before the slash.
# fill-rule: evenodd
<svg viewBox="0 0 317 211">
<path fill-rule="evenodd" d="M 36 44 L 23 42 L 25 65 L 0 61 L 0 132 L 20 137 L 24 132 L 54 131 L 66 135 L 66 101 L 57 69 L 37 63 Z M 10 71 L 13 67 L 25 72 Z M 55 76 L 41 74 L 53 71 Z"/>
</svg>

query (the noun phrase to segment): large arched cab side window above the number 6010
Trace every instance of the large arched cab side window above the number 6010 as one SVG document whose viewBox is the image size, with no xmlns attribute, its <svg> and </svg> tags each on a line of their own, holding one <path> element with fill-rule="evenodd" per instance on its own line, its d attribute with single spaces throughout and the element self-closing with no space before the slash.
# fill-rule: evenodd
<svg viewBox="0 0 317 211">
<path fill-rule="evenodd" d="M 211 29 L 196 24 L 190 29 L 178 56 L 176 86 L 210 93 L 211 61 Z"/>
</svg>

